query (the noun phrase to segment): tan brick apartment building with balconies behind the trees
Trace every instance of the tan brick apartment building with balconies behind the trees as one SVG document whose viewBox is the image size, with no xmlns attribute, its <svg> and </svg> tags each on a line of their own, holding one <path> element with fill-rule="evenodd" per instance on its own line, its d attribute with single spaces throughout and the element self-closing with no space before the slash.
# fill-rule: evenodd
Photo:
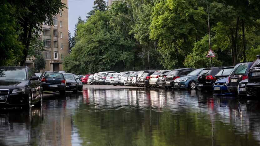
<svg viewBox="0 0 260 146">
<path fill-rule="evenodd" d="M 61 0 L 68 7 L 68 0 Z M 46 66 L 42 71 L 63 71 L 63 58 L 68 55 L 68 10 L 64 9 L 53 16 L 53 26 L 42 24 L 39 40 L 43 42 Z M 26 66 L 34 67 L 32 60 L 27 59 Z"/>
</svg>

